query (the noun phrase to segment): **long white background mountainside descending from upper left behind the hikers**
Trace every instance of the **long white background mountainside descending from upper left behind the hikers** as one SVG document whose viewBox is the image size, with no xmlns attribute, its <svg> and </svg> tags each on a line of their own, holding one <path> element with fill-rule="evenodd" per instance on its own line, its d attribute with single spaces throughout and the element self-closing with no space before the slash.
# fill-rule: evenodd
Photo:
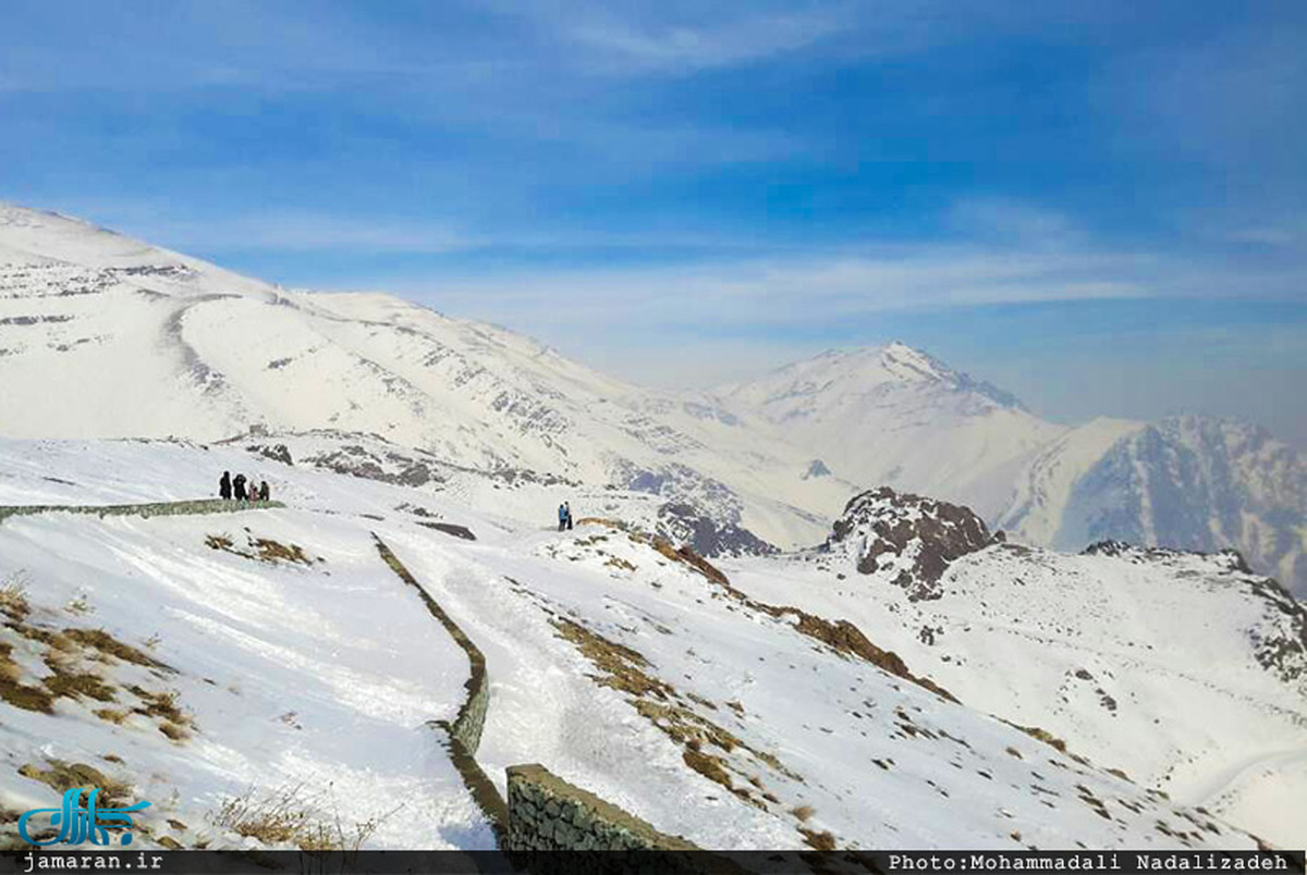
<svg viewBox="0 0 1307 875">
<path fill-rule="evenodd" d="M 690 504 L 779 545 L 855 490 L 774 430 L 647 393 L 535 341 L 386 295 L 290 293 L 48 213 L 0 206 L 0 434 L 380 435 Z"/>
</svg>

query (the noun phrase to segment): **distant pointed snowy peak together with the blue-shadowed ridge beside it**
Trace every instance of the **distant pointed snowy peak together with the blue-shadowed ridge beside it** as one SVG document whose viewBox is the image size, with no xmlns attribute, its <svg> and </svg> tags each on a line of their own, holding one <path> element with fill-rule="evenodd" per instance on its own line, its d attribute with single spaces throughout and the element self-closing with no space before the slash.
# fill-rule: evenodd
<svg viewBox="0 0 1307 875">
<path fill-rule="evenodd" d="M 1019 541 L 1233 547 L 1307 593 L 1307 460 L 1247 423 L 1067 428 L 903 343 L 826 353 L 716 396 L 809 447 L 823 469 L 967 504 Z"/>
</svg>

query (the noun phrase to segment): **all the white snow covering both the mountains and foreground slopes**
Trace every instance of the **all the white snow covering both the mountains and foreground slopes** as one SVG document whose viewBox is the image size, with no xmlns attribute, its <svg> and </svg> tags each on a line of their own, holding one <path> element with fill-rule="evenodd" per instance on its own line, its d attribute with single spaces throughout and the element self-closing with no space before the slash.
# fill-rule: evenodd
<svg viewBox="0 0 1307 875">
<path fill-rule="evenodd" d="M 723 559 L 728 589 L 630 534 L 690 504 L 808 547 L 856 485 L 890 483 L 1036 547 L 1200 533 L 1188 546 L 1256 546 L 1259 568 L 1294 577 L 1307 469 L 1238 423 L 1068 430 L 902 343 L 651 392 L 506 329 L 286 291 L 20 208 L 0 208 L 0 505 L 192 499 L 222 470 L 288 504 L 0 524 L 0 581 L 33 606 L 0 629 L 12 671 L 31 686 L 72 660 L 115 696 L 3 705 L 5 810 L 51 804 L 18 769 L 58 759 L 129 781 L 152 835 L 187 845 L 252 842 L 214 823 L 223 802 L 299 788 L 315 818 L 375 821 L 372 846 L 489 846 L 429 726 L 457 712 L 465 656 L 376 534 L 485 652 L 477 756 L 501 788 L 505 767 L 540 761 L 716 848 L 801 848 L 801 829 L 923 849 L 1307 835 L 1299 609 L 1229 555 L 996 545 L 912 601 L 893 579 L 920 543 L 869 576 L 839 551 Z M 294 465 L 264 454 L 278 445 Z M 808 475 L 816 458 L 831 473 Z M 553 532 L 562 500 L 600 521 Z M 260 559 L 259 538 L 307 562 Z M 775 606 L 855 623 L 961 704 Z M 169 669 L 52 654 L 43 640 L 69 628 Z M 180 738 L 159 714 L 95 714 L 146 710 L 128 687 L 175 692 Z"/>
</svg>

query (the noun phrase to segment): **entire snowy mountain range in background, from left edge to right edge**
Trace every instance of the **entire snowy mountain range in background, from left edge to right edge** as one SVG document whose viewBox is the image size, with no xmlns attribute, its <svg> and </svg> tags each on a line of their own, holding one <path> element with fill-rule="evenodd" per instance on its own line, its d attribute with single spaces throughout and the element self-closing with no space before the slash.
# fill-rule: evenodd
<svg viewBox="0 0 1307 875">
<path fill-rule="evenodd" d="M 1307 464 L 1265 431 L 1202 417 L 1068 428 L 903 343 L 650 390 L 396 298 L 289 291 L 0 206 L 0 385 L 10 438 L 376 435 L 456 466 L 647 494 L 682 532 L 707 525 L 710 552 L 817 543 L 851 495 L 885 485 L 1035 546 L 1234 547 L 1307 592 Z"/>
</svg>

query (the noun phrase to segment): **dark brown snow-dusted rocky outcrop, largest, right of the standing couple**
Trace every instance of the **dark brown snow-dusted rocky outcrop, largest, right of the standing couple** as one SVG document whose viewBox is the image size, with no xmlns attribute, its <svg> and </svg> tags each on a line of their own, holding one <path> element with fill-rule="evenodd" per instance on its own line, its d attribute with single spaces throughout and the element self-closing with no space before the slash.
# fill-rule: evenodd
<svg viewBox="0 0 1307 875">
<path fill-rule="evenodd" d="M 887 577 L 915 602 L 940 598 L 950 563 L 1001 539 L 970 508 L 882 486 L 848 501 L 822 549 L 843 551 L 859 573 Z"/>
</svg>

